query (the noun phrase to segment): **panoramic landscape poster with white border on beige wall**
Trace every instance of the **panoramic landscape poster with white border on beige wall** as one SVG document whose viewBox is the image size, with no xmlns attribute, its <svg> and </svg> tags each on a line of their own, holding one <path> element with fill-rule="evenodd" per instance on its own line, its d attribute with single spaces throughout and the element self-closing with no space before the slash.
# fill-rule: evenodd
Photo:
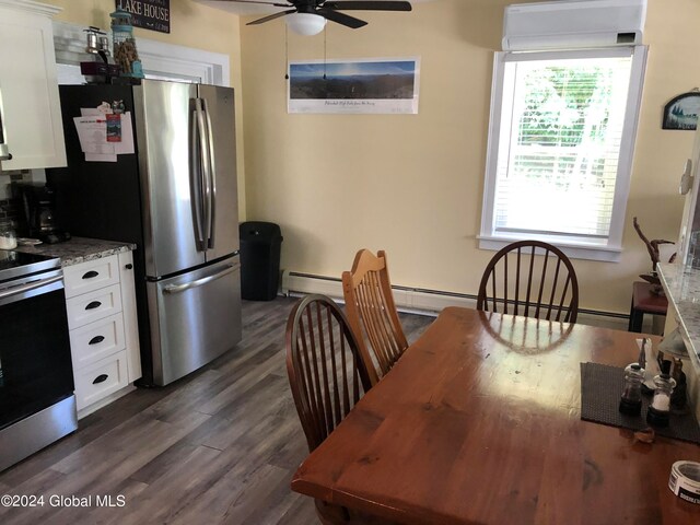
<svg viewBox="0 0 700 525">
<path fill-rule="evenodd" d="M 420 61 L 306 60 L 289 65 L 289 113 L 417 114 Z"/>
</svg>

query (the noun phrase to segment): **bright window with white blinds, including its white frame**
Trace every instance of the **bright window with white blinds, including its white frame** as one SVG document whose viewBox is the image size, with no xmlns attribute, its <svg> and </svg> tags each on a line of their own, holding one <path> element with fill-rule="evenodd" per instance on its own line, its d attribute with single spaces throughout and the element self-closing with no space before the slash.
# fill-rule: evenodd
<svg viewBox="0 0 700 525">
<path fill-rule="evenodd" d="M 497 54 L 482 240 L 621 244 L 643 72 L 634 49 Z"/>
</svg>

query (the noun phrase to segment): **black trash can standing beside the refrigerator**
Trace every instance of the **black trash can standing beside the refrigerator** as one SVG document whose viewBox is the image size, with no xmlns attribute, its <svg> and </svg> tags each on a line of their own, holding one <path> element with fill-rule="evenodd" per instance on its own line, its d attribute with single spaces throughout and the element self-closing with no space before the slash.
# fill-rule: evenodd
<svg viewBox="0 0 700 525">
<path fill-rule="evenodd" d="M 280 226 L 271 222 L 242 222 L 241 296 L 250 301 L 272 301 L 280 281 Z"/>
</svg>

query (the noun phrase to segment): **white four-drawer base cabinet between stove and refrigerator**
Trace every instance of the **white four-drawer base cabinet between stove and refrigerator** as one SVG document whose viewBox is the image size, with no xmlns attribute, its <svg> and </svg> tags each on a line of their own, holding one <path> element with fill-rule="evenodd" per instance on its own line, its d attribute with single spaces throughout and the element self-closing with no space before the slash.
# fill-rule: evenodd
<svg viewBox="0 0 700 525">
<path fill-rule="evenodd" d="M 141 358 L 131 252 L 63 269 L 78 417 L 133 389 Z"/>
</svg>

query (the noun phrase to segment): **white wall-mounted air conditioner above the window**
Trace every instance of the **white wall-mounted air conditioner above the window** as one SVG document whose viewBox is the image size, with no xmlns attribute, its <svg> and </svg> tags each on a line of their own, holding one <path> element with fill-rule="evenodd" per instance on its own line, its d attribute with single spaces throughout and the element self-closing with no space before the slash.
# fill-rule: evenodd
<svg viewBox="0 0 700 525">
<path fill-rule="evenodd" d="M 569 0 L 505 8 L 503 50 L 642 43 L 646 0 Z"/>
</svg>

